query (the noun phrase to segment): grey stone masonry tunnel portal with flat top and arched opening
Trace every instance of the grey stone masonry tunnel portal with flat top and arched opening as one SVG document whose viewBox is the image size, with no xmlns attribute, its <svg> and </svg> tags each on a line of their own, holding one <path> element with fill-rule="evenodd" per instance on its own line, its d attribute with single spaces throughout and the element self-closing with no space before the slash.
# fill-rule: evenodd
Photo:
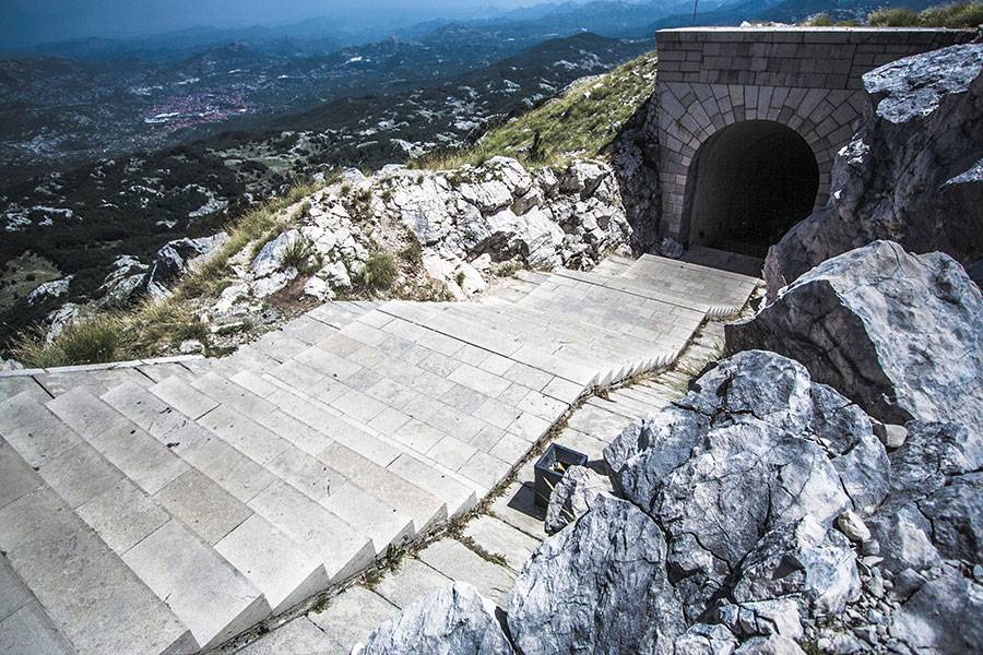
<svg viewBox="0 0 983 655">
<path fill-rule="evenodd" d="M 662 198 L 659 233 L 686 247 L 715 243 L 724 249 L 737 247 L 741 250 L 742 243 L 748 245 L 748 236 L 755 237 L 750 239 L 751 246 L 768 239 L 777 240 L 781 234 L 750 234 L 754 233 L 753 224 L 731 225 L 733 216 L 726 219 L 726 225 L 714 225 L 720 218 L 713 219 L 710 215 L 719 214 L 727 202 L 737 203 L 727 211 L 736 211 L 741 222 L 737 211 L 741 201 L 734 195 L 736 182 L 727 183 L 723 172 L 730 170 L 738 178 L 757 177 L 758 188 L 767 192 L 767 184 L 760 184 L 768 170 L 775 175 L 777 160 L 796 167 L 800 172 L 791 178 L 794 188 L 790 189 L 796 200 L 779 198 L 782 206 L 770 213 L 783 215 L 784 205 L 791 203 L 797 215 L 802 213 L 798 207 L 808 204 L 800 194 L 812 193 L 806 184 L 795 183 L 795 180 L 813 176 L 812 162 L 804 156 L 802 147 L 805 144 L 813 155 L 818 180 L 812 206 L 824 205 L 830 193 L 837 152 L 850 141 L 864 114 L 871 110 L 863 91 L 863 74 L 902 57 L 966 43 L 972 37 L 973 33 L 969 31 L 928 28 L 699 27 L 660 31 L 656 34 L 659 76 L 655 90 Z M 729 131 L 732 126 L 744 123 L 760 126 Z M 771 128 L 766 130 L 761 126 Z M 755 142 L 756 133 L 761 138 L 770 133 L 774 138 L 773 155 L 748 152 L 745 157 L 738 156 L 741 146 L 737 143 L 742 140 Z M 732 139 L 733 147 L 719 150 Z M 787 148 L 793 152 L 786 152 Z M 753 170 L 747 170 L 753 166 L 766 170 L 755 176 Z M 806 168 L 809 168 L 808 172 L 805 172 Z M 716 172 L 712 172 L 714 169 Z M 692 180 L 695 174 L 700 179 Z M 712 194 L 721 190 L 730 200 L 704 198 L 706 192 Z M 805 215 L 798 216 L 803 217 Z M 770 219 L 758 226 L 773 227 Z M 784 227 L 791 227 L 791 224 Z M 742 231 L 745 233 L 743 236 Z M 757 246 L 750 250 L 755 248 Z"/>
</svg>

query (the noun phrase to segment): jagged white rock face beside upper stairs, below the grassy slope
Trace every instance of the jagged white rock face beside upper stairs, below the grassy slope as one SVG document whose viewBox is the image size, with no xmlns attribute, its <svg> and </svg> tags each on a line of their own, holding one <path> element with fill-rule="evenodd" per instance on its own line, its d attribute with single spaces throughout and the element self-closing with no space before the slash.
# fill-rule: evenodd
<svg viewBox="0 0 983 655">
<path fill-rule="evenodd" d="M 535 174 L 517 160 L 493 157 L 453 171 L 399 171 L 381 182 L 382 205 L 450 262 L 483 254 L 518 258 L 535 269 L 590 267 L 619 246 L 631 228 L 612 169 L 592 162 Z"/>
</svg>

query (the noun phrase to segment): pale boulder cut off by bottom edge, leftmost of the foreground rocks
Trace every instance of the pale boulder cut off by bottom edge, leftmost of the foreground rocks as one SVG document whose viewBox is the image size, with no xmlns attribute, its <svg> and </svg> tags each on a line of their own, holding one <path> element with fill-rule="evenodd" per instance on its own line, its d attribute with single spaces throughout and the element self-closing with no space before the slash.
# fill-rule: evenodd
<svg viewBox="0 0 983 655">
<path fill-rule="evenodd" d="M 495 605 L 464 582 L 437 592 L 379 626 L 353 655 L 511 655 Z"/>
</svg>

